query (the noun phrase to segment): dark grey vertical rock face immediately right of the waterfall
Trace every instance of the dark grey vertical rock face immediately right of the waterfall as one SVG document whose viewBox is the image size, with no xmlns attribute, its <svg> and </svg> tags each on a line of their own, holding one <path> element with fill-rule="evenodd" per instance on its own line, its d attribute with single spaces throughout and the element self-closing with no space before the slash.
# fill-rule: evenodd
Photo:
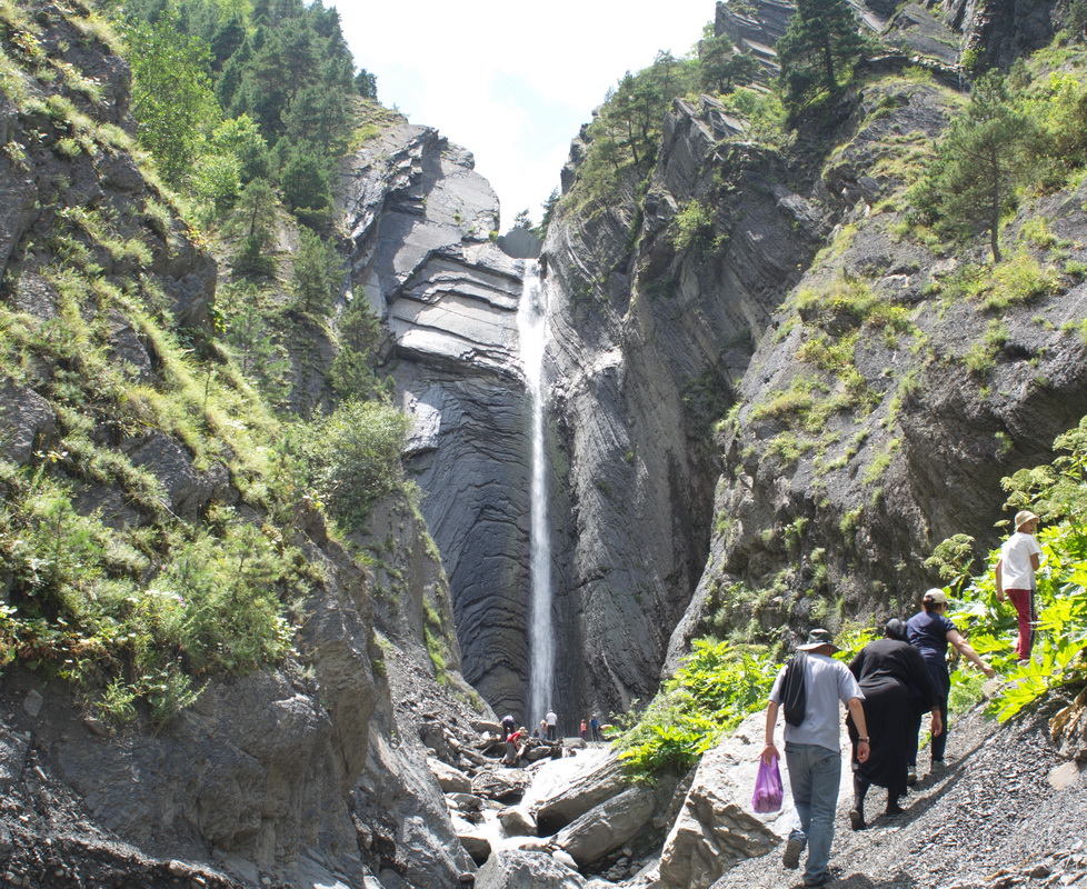
<svg viewBox="0 0 1087 889">
<path fill-rule="evenodd" d="M 739 127 L 711 99 L 677 101 L 640 224 L 632 204 L 560 214 L 545 244 L 574 503 L 570 651 L 589 705 L 624 707 L 656 687 L 709 543 L 711 424 L 825 231 L 774 152 L 718 147 Z M 678 249 L 669 222 L 709 200 L 715 169 L 736 183 L 719 228 Z"/>
</svg>

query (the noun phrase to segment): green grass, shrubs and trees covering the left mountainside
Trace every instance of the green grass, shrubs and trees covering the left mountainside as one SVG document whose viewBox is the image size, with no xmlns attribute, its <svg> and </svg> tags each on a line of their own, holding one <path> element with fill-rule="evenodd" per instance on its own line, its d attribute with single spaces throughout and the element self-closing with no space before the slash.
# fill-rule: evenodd
<svg viewBox="0 0 1087 889">
<path fill-rule="evenodd" d="M 149 182 L 120 201 L 107 192 L 69 207 L 69 179 L 41 179 L 41 216 L 0 282 L 0 387 L 32 390 L 51 418 L 19 465 L 0 460 L 0 666 L 70 681 L 116 725 L 163 722 L 210 678 L 266 668 L 290 651 L 306 599 L 323 582 L 302 552 L 301 517 L 323 499 L 340 527 L 355 529 L 377 498 L 403 490 L 407 422 L 383 403 L 359 401 L 312 424 L 269 410 L 285 406 L 290 388 L 285 317 L 323 323 L 339 292 L 327 232 L 298 234 L 293 307 L 269 256 L 298 224 L 285 197 L 308 226 L 327 221 L 326 192 L 292 192 L 288 173 L 305 181 L 308 159 L 326 177 L 351 136 L 350 126 L 325 126 L 338 120 L 331 111 L 306 117 L 328 97 L 303 91 L 350 84 L 348 98 L 365 101 L 343 64 L 336 13 L 290 0 L 136 0 L 124 13 L 123 41 L 93 14 L 49 14 L 122 50 L 140 41 L 133 101 L 150 154 L 86 112 L 102 100 L 101 86 L 62 60 L 64 47 L 43 49 L 44 20 L 0 0 L 0 90 L 20 118 L 8 130 L 8 159 L 31 169 L 19 141 L 29 132 L 34 151 L 52 144 L 61 159 L 134 152 Z M 276 68 L 290 41 L 313 52 L 298 78 Z M 238 53 L 282 87 L 278 110 L 222 103 Z M 260 98 L 246 86 L 253 70 L 240 60 L 233 70 L 239 94 Z M 372 79 L 361 86 L 372 98 Z M 46 208 L 50 188 L 56 200 Z M 209 237 L 181 221 L 182 203 Z M 220 282 L 216 306 L 196 301 L 195 314 L 206 310 L 211 322 L 195 317 L 182 327 L 174 311 L 183 307 L 156 269 L 209 243 L 235 254 L 235 278 Z M 339 331 L 343 352 L 362 360 L 377 337 L 363 306 Z M 382 394 L 365 370 L 341 368 L 338 393 Z M 174 502 L 163 463 L 216 493 Z"/>
</svg>

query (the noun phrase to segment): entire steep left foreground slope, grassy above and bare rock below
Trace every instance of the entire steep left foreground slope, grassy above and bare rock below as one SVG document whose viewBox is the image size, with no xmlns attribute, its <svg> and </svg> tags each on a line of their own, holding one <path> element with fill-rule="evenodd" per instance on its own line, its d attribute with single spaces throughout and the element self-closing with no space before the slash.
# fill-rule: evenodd
<svg viewBox="0 0 1087 889">
<path fill-rule="evenodd" d="M 0 873 L 448 886 L 418 708 L 475 711 L 433 545 L 398 493 L 346 547 L 280 462 L 110 39 L 0 4 Z"/>
</svg>

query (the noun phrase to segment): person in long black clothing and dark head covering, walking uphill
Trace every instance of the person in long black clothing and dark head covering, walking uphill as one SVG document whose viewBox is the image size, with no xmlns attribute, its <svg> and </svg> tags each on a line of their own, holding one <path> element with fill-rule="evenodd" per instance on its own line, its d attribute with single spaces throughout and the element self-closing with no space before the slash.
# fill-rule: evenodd
<svg viewBox="0 0 1087 889">
<path fill-rule="evenodd" d="M 928 665 L 920 652 L 906 641 L 906 625 L 891 618 L 884 638 L 870 642 L 849 665 L 860 690 L 865 692 L 865 721 L 868 726 L 868 760 L 857 758 L 861 737 L 852 716 L 846 717 L 854 745 L 854 803 L 849 823 L 854 830 L 865 825 L 865 795 L 871 785 L 887 788 L 887 815 L 902 812 L 898 798 L 906 792 L 907 736 L 913 725 L 914 697 L 933 712 L 933 737 L 944 730 L 940 698 Z M 916 737 L 916 733 L 915 733 Z"/>
</svg>

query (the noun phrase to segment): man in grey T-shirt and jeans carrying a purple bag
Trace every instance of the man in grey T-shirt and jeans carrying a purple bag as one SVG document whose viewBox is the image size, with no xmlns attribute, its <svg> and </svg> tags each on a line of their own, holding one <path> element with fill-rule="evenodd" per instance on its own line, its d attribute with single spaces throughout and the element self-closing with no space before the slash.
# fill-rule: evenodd
<svg viewBox="0 0 1087 889">
<path fill-rule="evenodd" d="M 834 840 L 834 813 L 838 805 L 838 786 L 841 782 L 841 750 L 839 747 L 840 711 L 845 703 L 858 731 L 857 759 L 868 759 L 868 729 L 861 701 L 860 686 L 845 663 L 830 656 L 838 651 L 834 637 L 827 630 L 811 630 L 808 641 L 799 646 L 806 652 L 798 663 L 804 670 L 804 716 L 799 725 L 786 722 L 785 761 L 789 770 L 789 786 L 796 806 L 796 823 L 785 843 L 781 863 L 796 868 L 800 852 L 808 847 L 808 861 L 804 870 L 805 886 L 824 886 L 830 882 L 827 863 Z M 778 707 L 785 701 L 782 689 L 789 666 L 781 668 L 770 702 L 766 708 L 766 747 L 762 761 L 769 765 L 778 756 L 774 745 L 774 727 Z"/>
</svg>

